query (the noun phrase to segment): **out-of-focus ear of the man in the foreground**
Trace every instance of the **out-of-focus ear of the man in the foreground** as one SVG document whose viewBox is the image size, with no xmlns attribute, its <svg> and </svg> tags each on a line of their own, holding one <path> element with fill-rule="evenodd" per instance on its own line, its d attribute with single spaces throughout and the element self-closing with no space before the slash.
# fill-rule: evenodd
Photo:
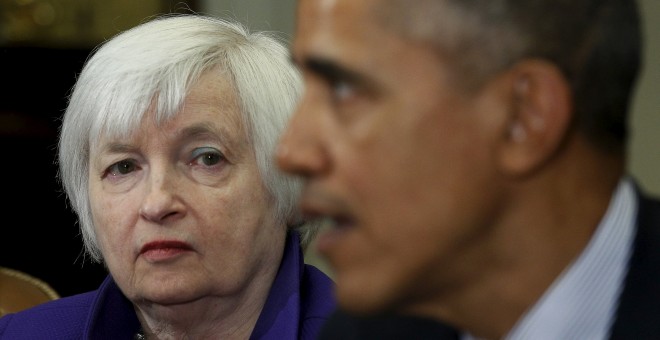
<svg viewBox="0 0 660 340">
<path fill-rule="evenodd" d="M 508 71 L 510 113 L 499 148 L 501 170 L 525 176 L 561 147 L 571 127 L 570 86 L 555 65 L 523 60 Z"/>
</svg>

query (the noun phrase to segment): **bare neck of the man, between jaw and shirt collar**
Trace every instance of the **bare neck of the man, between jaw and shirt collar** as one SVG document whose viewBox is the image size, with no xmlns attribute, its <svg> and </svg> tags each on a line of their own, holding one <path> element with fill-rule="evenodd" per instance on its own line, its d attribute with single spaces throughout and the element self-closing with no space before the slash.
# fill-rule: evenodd
<svg viewBox="0 0 660 340">
<path fill-rule="evenodd" d="M 433 315 L 483 338 L 506 335 L 582 253 L 623 174 L 620 157 L 570 156 L 513 184 L 497 224 L 458 261 L 467 273 L 454 285 L 459 289 L 411 313 Z"/>
</svg>

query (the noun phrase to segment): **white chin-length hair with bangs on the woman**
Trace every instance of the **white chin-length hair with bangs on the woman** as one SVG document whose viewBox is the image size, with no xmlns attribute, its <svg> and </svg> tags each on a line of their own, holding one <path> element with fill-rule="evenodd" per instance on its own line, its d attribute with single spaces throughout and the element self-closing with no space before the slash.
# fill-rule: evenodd
<svg viewBox="0 0 660 340">
<path fill-rule="evenodd" d="M 164 122 L 179 112 L 200 75 L 220 67 L 239 98 L 243 123 L 278 221 L 307 246 L 318 225 L 303 223 L 299 179 L 274 164 L 280 134 L 302 90 L 298 70 L 273 32 L 256 32 L 225 19 L 197 14 L 157 17 L 100 45 L 86 61 L 69 98 L 59 137 L 59 176 L 78 215 L 85 250 L 102 256 L 89 201 L 91 146 L 99 136 L 136 133 L 147 108 Z"/>
</svg>

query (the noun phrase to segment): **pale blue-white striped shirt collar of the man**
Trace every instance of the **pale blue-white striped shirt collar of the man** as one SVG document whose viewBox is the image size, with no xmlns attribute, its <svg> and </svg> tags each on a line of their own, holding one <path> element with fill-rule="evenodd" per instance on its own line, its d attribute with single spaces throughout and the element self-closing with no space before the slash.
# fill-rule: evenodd
<svg viewBox="0 0 660 340">
<path fill-rule="evenodd" d="M 607 339 L 627 273 L 637 204 L 632 180 L 623 178 L 586 248 L 504 339 Z"/>
</svg>

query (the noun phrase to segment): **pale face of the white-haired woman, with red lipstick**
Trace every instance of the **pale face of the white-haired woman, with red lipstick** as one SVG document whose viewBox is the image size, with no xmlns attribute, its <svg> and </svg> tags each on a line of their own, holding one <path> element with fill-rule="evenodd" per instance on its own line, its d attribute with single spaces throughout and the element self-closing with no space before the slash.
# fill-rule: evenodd
<svg viewBox="0 0 660 340">
<path fill-rule="evenodd" d="M 90 201 L 103 258 L 132 301 L 183 304 L 270 287 L 285 227 L 262 185 L 234 89 L 218 72 L 161 126 L 92 149 Z"/>
</svg>

